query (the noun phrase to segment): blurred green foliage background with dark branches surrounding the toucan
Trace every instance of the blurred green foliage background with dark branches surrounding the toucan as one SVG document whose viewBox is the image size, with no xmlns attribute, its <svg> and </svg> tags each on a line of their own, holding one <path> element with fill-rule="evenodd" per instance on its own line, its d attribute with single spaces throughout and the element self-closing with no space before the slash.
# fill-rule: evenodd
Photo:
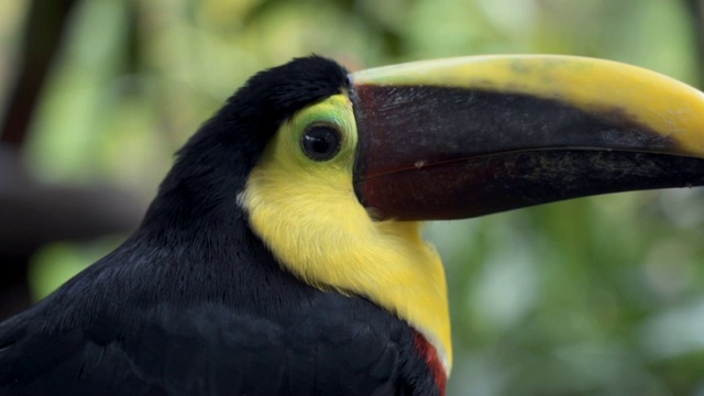
<svg viewBox="0 0 704 396">
<path fill-rule="evenodd" d="M 3 0 L 0 53 L 0 318 L 119 244 L 199 124 L 292 57 L 556 53 L 704 78 L 697 0 Z M 426 232 L 448 271 L 449 395 L 704 395 L 702 190 Z"/>
</svg>

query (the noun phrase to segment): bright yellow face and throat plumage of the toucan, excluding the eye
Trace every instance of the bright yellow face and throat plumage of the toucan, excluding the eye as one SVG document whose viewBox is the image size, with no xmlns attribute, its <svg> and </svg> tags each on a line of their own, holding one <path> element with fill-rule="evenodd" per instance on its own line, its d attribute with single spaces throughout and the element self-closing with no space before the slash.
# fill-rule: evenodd
<svg viewBox="0 0 704 396">
<path fill-rule="evenodd" d="M 334 158 L 300 148 L 315 123 L 342 133 Z M 299 111 L 268 143 L 239 197 L 256 234 L 284 268 L 322 290 L 360 295 L 408 321 L 452 365 L 444 270 L 419 222 L 374 221 L 352 186 L 356 127 L 352 105 L 336 95 Z"/>
</svg>

